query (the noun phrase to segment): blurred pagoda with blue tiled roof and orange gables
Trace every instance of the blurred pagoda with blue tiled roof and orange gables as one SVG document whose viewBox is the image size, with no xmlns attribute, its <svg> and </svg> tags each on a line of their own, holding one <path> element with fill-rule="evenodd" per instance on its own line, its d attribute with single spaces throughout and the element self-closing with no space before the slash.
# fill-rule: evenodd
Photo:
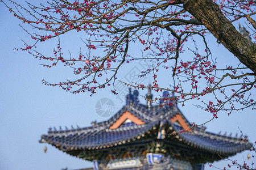
<svg viewBox="0 0 256 170">
<path fill-rule="evenodd" d="M 77 158 L 93 162 L 90 169 L 204 169 L 205 163 L 249 149 L 241 138 L 193 128 L 180 112 L 174 97 L 151 105 L 138 100 L 137 90 L 126 96 L 126 105 L 109 120 L 86 128 L 52 130 L 40 142 L 49 143 Z M 169 105 L 171 103 L 171 105 Z"/>
</svg>

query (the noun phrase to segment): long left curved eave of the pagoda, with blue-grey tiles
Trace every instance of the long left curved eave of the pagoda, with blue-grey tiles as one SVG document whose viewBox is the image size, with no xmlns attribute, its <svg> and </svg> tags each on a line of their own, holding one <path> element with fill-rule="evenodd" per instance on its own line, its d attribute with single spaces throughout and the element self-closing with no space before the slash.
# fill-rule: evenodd
<svg viewBox="0 0 256 170">
<path fill-rule="evenodd" d="M 149 124 L 132 127 L 93 131 L 90 134 L 48 134 L 42 135 L 40 141 L 60 147 L 61 150 L 70 150 L 71 148 L 79 150 L 97 150 L 123 145 L 141 139 L 148 134 L 150 130 L 156 129 L 155 127 L 158 126 L 158 124 L 159 121 L 155 121 Z"/>
</svg>

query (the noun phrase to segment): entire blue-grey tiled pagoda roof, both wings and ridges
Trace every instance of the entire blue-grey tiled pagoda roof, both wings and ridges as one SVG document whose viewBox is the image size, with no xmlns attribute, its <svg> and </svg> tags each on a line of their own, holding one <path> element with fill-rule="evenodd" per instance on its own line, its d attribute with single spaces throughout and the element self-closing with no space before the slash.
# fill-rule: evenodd
<svg viewBox="0 0 256 170">
<path fill-rule="evenodd" d="M 132 139 L 133 141 L 145 137 L 150 131 L 160 131 L 160 121 L 164 122 L 166 129 L 172 131 L 183 130 L 180 125 L 171 122 L 171 118 L 179 114 L 183 118 L 188 127 L 191 127 L 188 120 L 174 106 L 169 105 L 150 106 L 139 104 L 138 99 L 131 94 L 127 97 L 127 105 L 125 105 L 112 118 L 104 122 L 94 123 L 93 126 L 87 128 L 77 128 L 71 130 L 49 130 L 48 134 L 42 135 L 40 142 L 50 143 L 65 151 L 66 148 L 76 148 L 79 150 L 94 150 L 106 146 L 126 145 Z M 164 101 L 162 101 L 164 102 Z M 123 113 L 129 112 L 133 116 L 139 118 L 144 124 L 136 125 L 133 122 L 123 122 L 117 129 L 109 129 Z M 163 124 L 163 123 L 162 123 Z M 171 127 L 171 128 L 170 128 Z M 176 134 L 176 136 L 179 134 Z M 157 136 L 157 135 L 156 135 Z M 146 137 L 145 137 L 146 138 Z M 192 132 L 184 132 L 179 135 L 180 142 L 199 150 L 207 151 L 212 154 L 221 154 L 223 156 L 234 155 L 250 148 L 248 142 L 241 141 L 240 138 L 225 137 L 218 134 L 204 131 L 203 128 L 193 129 Z M 165 138 L 162 140 L 171 140 Z"/>
</svg>

